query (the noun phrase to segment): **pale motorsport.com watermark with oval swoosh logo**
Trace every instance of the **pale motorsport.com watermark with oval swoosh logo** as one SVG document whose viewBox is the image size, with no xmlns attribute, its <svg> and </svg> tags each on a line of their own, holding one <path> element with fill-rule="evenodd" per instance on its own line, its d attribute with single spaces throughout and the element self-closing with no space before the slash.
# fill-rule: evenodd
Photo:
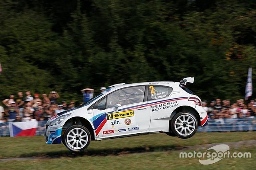
<svg viewBox="0 0 256 170">
<path fill-rule="evenodd" d="M 215 162 L 220 161 L 223 158 L 251 158 L 251 153 L 250 152 L 234 152 L 231 154 L 229 152 L 229 146 L 226 144 L 219 144 L 216 146 L 213 146 L 208 150 L 215 150 L 215 152 L 180 152 L 180 158 L 199 158 L 199 162 L 203 165 L 210 165 Z M 200 158 L 209 158 L 206 160 L 201 160 Z"/>
</svg>

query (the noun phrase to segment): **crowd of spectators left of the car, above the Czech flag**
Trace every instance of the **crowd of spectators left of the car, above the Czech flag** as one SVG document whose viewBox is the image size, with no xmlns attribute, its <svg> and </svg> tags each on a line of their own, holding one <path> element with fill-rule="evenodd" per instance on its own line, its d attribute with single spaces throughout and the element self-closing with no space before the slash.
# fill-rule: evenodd
<svg viewBox="0 0 256 170">
<path fill-rule="evenodd" d="M 2 101 L 6 108 L 0 106 L 0 123 L 47 121 L 53 115 L 75 107 L 75 101 L 58 104 L 58 98 L 60 96 L 56 91 L 51 91 L 49 95 L 42 94 L 42 98 L 37 93 L 32 96 L 30 91 L 26 91 L 26 96 L 18 92 L 17 98 L 11 94 Z"/>
</svg>

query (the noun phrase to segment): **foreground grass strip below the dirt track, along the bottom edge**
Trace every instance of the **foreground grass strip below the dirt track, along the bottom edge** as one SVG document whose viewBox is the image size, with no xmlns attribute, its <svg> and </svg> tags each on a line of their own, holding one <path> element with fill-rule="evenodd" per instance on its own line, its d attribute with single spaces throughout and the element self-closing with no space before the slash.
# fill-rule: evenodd
<svg viewBox="0 0 256 170">
<path fill-rule="evenodd" d="M 0 169 L 255 169 L 255 146 L 238 148 L 233 152 L 251 152 L 252 158 L 223 158 L 212 165 L 201 165 L 198 158 L 179 158 L 179 151 L 167 151 L 3 161 L 0 163 Z"/>
</svg>

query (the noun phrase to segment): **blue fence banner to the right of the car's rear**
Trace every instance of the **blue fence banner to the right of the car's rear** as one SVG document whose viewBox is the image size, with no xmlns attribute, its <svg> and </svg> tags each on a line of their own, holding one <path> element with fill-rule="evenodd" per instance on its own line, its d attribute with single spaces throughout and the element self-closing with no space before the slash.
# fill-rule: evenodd
<svg viewBox="0 0 256 170">
<path fill-rule="evenodd" d="M 227 132 L 256 130 L 256 118 L 209 119 L 208 125 L 198 127 L 197 132 Z"/>
</svg>

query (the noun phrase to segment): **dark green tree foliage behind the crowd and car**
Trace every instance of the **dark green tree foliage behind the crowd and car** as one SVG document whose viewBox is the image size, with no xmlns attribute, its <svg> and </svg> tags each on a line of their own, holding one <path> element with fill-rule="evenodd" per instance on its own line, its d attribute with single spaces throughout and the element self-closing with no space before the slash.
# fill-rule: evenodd
<svg viewBox="0 0 256 170">
<path fill-rule="evenodd" d="M 0 99 L 193 76 L 202 99 L 234 101 L 255 45 L 253 0 L 0 0 Z"/>
</svg>

